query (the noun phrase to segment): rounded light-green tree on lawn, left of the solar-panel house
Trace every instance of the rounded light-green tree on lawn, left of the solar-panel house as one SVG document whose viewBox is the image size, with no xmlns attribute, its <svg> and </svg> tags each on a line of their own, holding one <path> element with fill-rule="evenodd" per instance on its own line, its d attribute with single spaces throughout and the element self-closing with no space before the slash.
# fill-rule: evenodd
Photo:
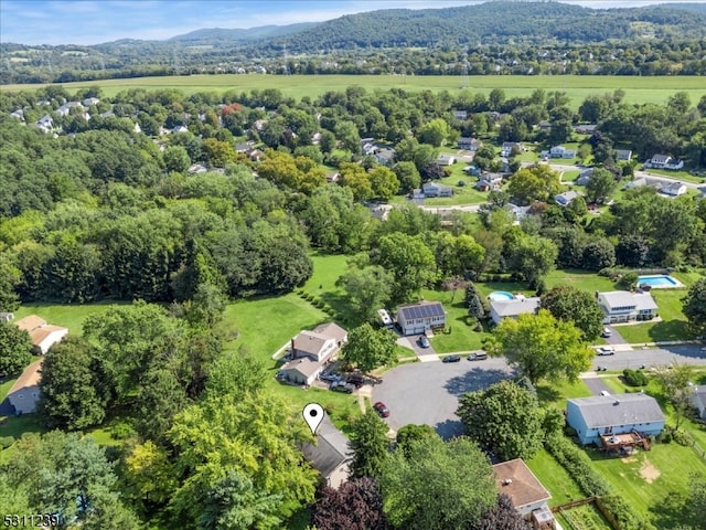
<svg viewBox="0 0 706 530">
<path fill-rule="evenodd" d="M 335 285 L 343 287 L 357 318 L 371 321 L 392 294 L 393 275 L 379 265 L 357 267 L 352 262 Z"/>
</svg>

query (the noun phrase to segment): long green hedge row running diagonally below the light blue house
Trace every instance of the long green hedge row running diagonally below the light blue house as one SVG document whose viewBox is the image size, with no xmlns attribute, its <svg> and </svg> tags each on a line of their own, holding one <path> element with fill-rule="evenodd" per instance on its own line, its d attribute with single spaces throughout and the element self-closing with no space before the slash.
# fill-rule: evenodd
<svg viewBox="0 0 706 530">
<path fill-rule="evenodd" d="M 603 508 L 621 530 L 654 530 L 625 500 L 611 492 L 610 485 L 598 473 L 591 459 L 568 438 L 556 435 L 547 439 L 546 449 L 574 478 L 584 495 L 600 498 Z"/>
</svg>

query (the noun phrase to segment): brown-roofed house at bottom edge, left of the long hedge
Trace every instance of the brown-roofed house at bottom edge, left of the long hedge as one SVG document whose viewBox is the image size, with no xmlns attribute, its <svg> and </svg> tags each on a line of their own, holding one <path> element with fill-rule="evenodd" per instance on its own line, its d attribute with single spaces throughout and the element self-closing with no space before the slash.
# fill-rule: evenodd
<svg viewBox="0 0 706 530">
<path fill-rule="evenodd" d="M 493 466 L 498 490 L 512 500 L 515 510 L 536 529 L 554 529 L 554 516 L 547 502 L 552 495 L 522 458 Z"/>
</svg>

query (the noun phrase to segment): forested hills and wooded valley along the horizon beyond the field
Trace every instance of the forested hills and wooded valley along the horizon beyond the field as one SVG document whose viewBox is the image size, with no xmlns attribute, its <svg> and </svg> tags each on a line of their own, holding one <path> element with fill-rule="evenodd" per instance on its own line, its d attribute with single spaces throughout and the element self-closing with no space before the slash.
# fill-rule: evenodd
<svg viewBox="0 0 706 530">
<path fill-rule="evenodd" d="M 488 2 L 94 46 L 0 44 L 0 83 L 195 73 L 704 75 L 706 12 Z M 296 59 L 293 59 L 296 57 Z M 403 68 L 395 70 L 403 65 Z"/>
</svg>

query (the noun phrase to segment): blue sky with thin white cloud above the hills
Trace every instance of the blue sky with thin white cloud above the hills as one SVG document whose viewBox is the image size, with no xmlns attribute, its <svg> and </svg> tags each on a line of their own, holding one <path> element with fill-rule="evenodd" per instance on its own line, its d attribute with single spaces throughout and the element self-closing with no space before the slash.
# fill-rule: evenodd
<svg viewBox="0 0 706 530">
<path fill-rule="evenodd" d="M 677 0 L 561 0 L 591 8 Z M 699 3 L 695 0 L 682 2 Z M 702 0 L 703 2 L 703 0 Z M 0 0 L 0 42 L 98 44 L 163 40 L 204 28 L 320 22 L 378 9 L 447 8 L 479 0 Z"/>
</svg>

